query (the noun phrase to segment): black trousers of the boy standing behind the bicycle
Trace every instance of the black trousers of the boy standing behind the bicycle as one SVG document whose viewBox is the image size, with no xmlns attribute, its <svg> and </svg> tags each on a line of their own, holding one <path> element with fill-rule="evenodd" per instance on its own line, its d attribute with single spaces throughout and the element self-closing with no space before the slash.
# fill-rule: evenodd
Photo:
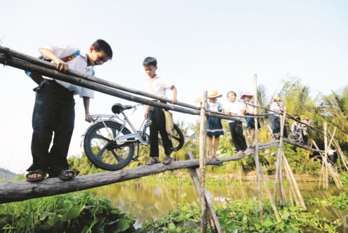
<svg viewBox="0 0 348 233">
<path fill-rule="evenodd" d="M 163 110 L 150 106 L 148 117 L 152 121 L 150 126 L 150 157 L 159 156 L 158 133 L 162 138 L 164 153 L 166 155 L 171 155 L 173 144 L 166 131 L 166 119 L 164 118 Z"/>
</svg>

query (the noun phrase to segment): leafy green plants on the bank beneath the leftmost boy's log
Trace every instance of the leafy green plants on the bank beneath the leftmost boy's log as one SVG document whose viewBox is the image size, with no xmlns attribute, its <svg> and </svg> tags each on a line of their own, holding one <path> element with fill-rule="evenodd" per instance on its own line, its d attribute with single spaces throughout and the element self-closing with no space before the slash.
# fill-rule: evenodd
<svg viewBox="0 0 348 233">
<path fill-rule="evenodd" d="M 134 232 L 134 217 L 79 192 L 1 204 L 1 232 Z"/>
</svg>

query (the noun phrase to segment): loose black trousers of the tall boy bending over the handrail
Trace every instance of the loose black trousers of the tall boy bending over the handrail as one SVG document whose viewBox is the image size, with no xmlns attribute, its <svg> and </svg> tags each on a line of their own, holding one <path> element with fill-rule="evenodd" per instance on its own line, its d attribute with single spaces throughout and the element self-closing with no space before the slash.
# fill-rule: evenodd
<svg viewBox="0 0 348 233">
<path fill-rule="evenodd" d="M 58 175 L 62 169 L 68 169 L 66 158 L 74 130 L 74 106 L 73 92 L 56 81 L 44 79 L 38 86 L 32 119 L 33 164 L 27 171 L 42 169 L 49 175 Z"/>
</svg>

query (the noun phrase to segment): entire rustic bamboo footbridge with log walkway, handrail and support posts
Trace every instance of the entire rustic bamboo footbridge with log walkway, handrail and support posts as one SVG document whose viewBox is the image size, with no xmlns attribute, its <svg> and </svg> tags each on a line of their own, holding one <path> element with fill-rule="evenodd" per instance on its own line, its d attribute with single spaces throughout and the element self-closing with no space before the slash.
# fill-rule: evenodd
<svg viewBox="0 0 348 233">
<path fill-rule="evenodd" d="M 228 156 L 221 157 L 219 161 L 209 161 L 206 158 L 206 129 L 207 129 L 207 116 L 214 116 L 216 118 L 226 119 L 226 120 L 234 120 L 237 116 L 228 116 L 224 113 L 213 113 L 209 111 L 205 111 L 207 104 L 207 92 L 203 93 L 203 102 L 202 106 L 192 106 L 189 104 L 185 104 L 182 102 L 178 102 L 176 105 L 171 104 L 162 104 L 161 102 L 153 102 L 150 99 L 145 99 L 144 97 L 150 97 L 153 99 L 159 99 L 164 102 L 170 102 L 166 98 L 158 97 L 157 95 L 153 95 L 150 93 L 145 93 L 140 90 L 135 90 L 132 88 L 126 88 L 124 86 L 120 86 L 116 83 L 112 83 L 110 81 L 105 81 L 104 79 L 99 79 L 97 77 L 92 77 L 86 74 L 81 74 L 79 72 L 68 71 L 66 73 L 61 73 L 56 70 L 56 67 L 47 61 L 42 61 L 38 58 L 33 58 L 26 54 L 21 54 L 17 51 L 13 51 L 6 47 L 0 46 L 0 63 L 5 66 L 15 67 L 21 70 L 29 70 L 31 72 L 40 72 L 47 77 L 52 77 L 54 79 L 66 81 L 69 83 L 73 83 L 78 86 L 83 86 L 85 88 L 90 88 L 92 90 L 105 93 L 106 95 L 112 95 L 114 97 L 120 97 L 122 99 L 127 99 L 132 102 L 138 102 L 141 104 L 148 104 L 152 106 L 158 106 L 163 109 L 168 109 L 171 111 L 177 111 L 181 113 L 187 113 L 191 115 L 200 115 L 200 150 L 199 150 L 199 159 L 194 159 L 191 151 L 187 151 L 190 159 L 187 161 L 175 161 L 169 165 L 163 165 L 161 163 L 154 164 L 153 166 L 139 166 L 137 168 L 129 168 L 125 170 L 117 170 L 112 172 L 102 172 L 93 175 L 84 175 L 78 176 L 72 179 L 69 182 L 61 181 L 58 178 L 49 178 L 44 179 L 42 182 L 31 183 L 26 181 L 20 182 L 6 182 L 0 184 L 0 203 L 6 202 L 16 202 L 22 200 L 29 200 L 31 198 L 41 198 L 50 195 L 58 195 L 63 193 L 70 193 L 75 191 L 83 191 L 88 188 L 95 188 L 98 186 L 104 186 L 107 184 L 113 184 L 117 182 L 125 182 L 131 179 L 137 179 L 140 177 L 145 177 L 148 175 L 157 174 L 160 172 L 165 172 L 166 170 L 176 170 L 187 168 L 189 169 L 191 178 L 193 179 L 193 183 L 198 189 L 198 193 L 200 193 L 200 206 L 202 209 L 201 216 L 201 232 L 206 232 L 206 227 L 209 225 L 212 232 L 223 232 L 219 225 L 219 221 L 216 218 L 216 214 L 212 207 L 212 202 L 210 200 L 209 194 L 205 189 L 205 170 L 206 166 L 214 166 L 219 165 L 221 163 L 226 163 L 228 161 L 235 161 L 238 159 L 242 159 L 244 156 Z M 256 75 L 254 76 L 254 87 L 255 93 L 256 90 Z M 255 95 L 257 98 L 257 95 Z M 260 107 L 260 106 L 258 106 Z M 269 109 L 267 109 L 271 112 Z M 255 115 L 256 118 L 261 117 L 263 115 L 271 115 L 269 114 L 258 114 Z M 283 130 L 283 125 L 285 122 L 285 118 L 292 118 L 291 115 L 288 115 L 285 111 L 283 111 L 283 115 L 281 116 L 281 129 Z M 292 118 L 294 120 L 294 118 Z M 324 122 L 325 123 L 325 122 Z M 257 129 L 257 127 L 255 127 Z M 279 220 L 280 216 L 278 214 L 278 210 L 276 209 L 276 194 L 280 193 L 280 204 L 285 204 L 285 188 L 283 186 L 283 178 L 287 179 L 289 183 L 290 189 L 290 197 L 294 200 L 296 205 L 299 205 L 306 209 L 306 204 L 303 202 L 303 198 L 301 196 L 301 192 L 296 183 L 296 179 L 292 173 L 292 170 L 287 163 L 287 159 L 285 154 L 283 153 L 283 143 L 290 143 L 295 145 L 296 147 L 301 147 L 305 150 L 310 150 L 312 152 L 318 152 L 322 156 L 322 175 L 320 177 L 319 186 L 322 184 L 323 188 L 328 188 L 329 185 L 329 175 L 333 177 L 333 180 L 340 188 L 343 190 L 342 182 L 340 182 L 339 175 L 332 169 L 331 166 L 327 163 L 327 148 L 331 143 L 335 143 L 333 138 L 333 134 L 331 136 L 330 142 L 328 142 L 328 133 L 326 132 L 326 124 L 324 124 L 324 138 L 325 138 L 325 150 L 319 150 L 315 142 L 315 149 L 308 147 L 306 145 L 301 145 L 298 143 L 294 143 L 287 138 L 280 137 L 279 140 L 272 140 L 269 143 L 258 144 L 258 131 L 255 131 L 255 145 L 250 145 L 251 154 L 255 159 L 256 165 L 256 174 L 257 174 L 257 182 L 258 182 L 258 200 L 259 200 L 259 209 L 260 209 L 260 218 L 263 218 L 263 204 L 262 204 L 262 192 L 261 186 L 265 189 L 267 196 L 271 202 L 271 206 L 274 209 L 274 213 L 276 218 Z M 283 135 L 283 132 L 280 132 Z M 264 179 L 264 174 L 260 169 L 260 162 L 258 159 L 258 151 L 264 150 L 269 147 L 277 147 L 278 153 L 276 156 L 276 176 L 274 181 L 274 194 L 272 196 L 271 191 L 269 190 L 269 186 L 267 184 L 267 180 Z M 338 148 L 339 145 L 335 144 L 335 147 Z M 342 154 L 342 153 L 341 153 Z M 197 156 L 196 156 L 197 157 Z M 342 155 L 343 159 L 343 155 Z M 347 164 L 344 161 L 344 165 L 347 168 Z M 348 170 L 348 168 L 347 168 Z M 278 192 L 280 191 L 280 192 Z"/>
</svg>

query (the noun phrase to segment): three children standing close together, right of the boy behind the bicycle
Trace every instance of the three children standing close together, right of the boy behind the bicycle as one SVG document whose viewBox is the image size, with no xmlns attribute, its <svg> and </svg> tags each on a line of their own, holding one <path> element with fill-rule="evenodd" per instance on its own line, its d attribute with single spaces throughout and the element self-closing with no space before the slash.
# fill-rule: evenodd
<svg viewBox="0 0 348 233">
<path fill-rule="evenodd" d="M 228 115 L 233 115 L 235 118 L 233 120 L 228 120 L 228 126 L 230 127 L 230 133 L 232 136 L 233 144 L 235 145 L 235 150 L 237 151 L 237 156 L 248 155 L 250 151 L 248 150 L 248 145 L 246 144 L 246 138 L 243 133 L 242 119 L 246 115 L 255 115 L 257 113 L 257 108 L 251 101 L 253 95 L 246 91 L 243 93 L 241 99 L 244 99 L 244 104 L 237 102 L 237 93 L 234 91 L 229 91 L 227 93 L 228 104 L 223 107 L 221 102 L 217 101 L 217 98 L 222 97 L 219 95 L 217 90 L 211 89 L 207 92 L 207 109 L 209 111 L 224 112 Z M 255 140 L 255 120 L 257 118 L 245 117 L 246 127 L 251 136 L 251 143 Z M 258 129 L 260 129 L 260 123 L 258 122 Z M 219 161 L 219 156 L 217 155 L 217 150 L 219 147 L 220 136 L 224 134 L 223 127 L 220 118 L 215 118 L 209 116 L 207 118 L 207 147 L 208 147 L 208 158 L 209 160 L 216 159 Z M 214 139 L 214 143 L 213 143 Z"/>
</svg>

